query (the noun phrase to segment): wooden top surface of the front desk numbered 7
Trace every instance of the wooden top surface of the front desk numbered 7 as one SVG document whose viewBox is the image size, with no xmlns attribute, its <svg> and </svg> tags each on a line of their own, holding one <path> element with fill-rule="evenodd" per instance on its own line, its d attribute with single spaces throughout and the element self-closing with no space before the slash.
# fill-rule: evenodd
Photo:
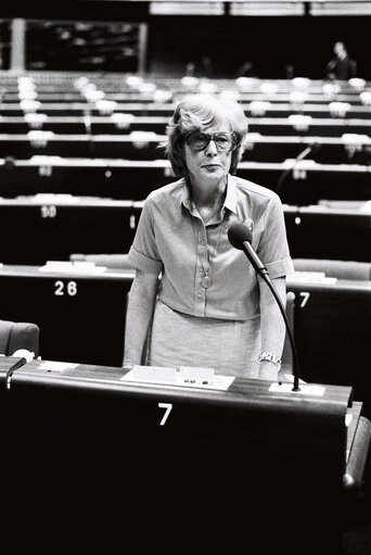
<svg viewBox="0 0 371 555">
<path fill-rule="evenodd" d="M 197 370 L 195 368 L 195 370 Z M 202 375 L 202 369 L 200 375 Z M 280 405 L 283 411 L 299 407 L 299 411 L 307 412 L 316 405 L 319 412 L 324 414 L 341 413 L 345 415 L 348 406 L 351 406 L 351 388 L 345 386 L 314 386 L 312 390 L 307 391 L 305 386 L 300 386 L 299 392 L 292 391 L 292 383 L 279 384 L 271 381 L 235 378 L 227 390 L 217 390 L 213 386 L 202 386 L 202 380 L 196 379 L 194 386 L 182 383 L 181 386 L 171 384 L 162 380 L 154 379 L 152 382 L 128 381 L 125 379 L 130 370 L 117 367 L 105 367 L 85 365 L 78 363 L 57 363 L 53 361 L 31 361 L 22 366 L 13 374 L 13 383 L 20 383 L 23 380 L 28 382 L 43 382 L 46 384 L 57 384 L 59 387 L 76 387 L 80 389 L 115 391 L 123 395 L 153 396 L 159 393 L 169 399 L 184 399 L 193 401 L 203 401 L 207 399 L 210 403 L 231 403 L 239 407 L 252 404 L 274 404 Z M 218 376 L 216 376 L 217 378 Z M 209 381 L 213 383 L 213 378 Z M 274 387 L 272 387 L 272 384 Z M 277 386 L 277 387 L 276 387 Z M 292 401 L 295 400 L 293 405 Z"/>
</svg>

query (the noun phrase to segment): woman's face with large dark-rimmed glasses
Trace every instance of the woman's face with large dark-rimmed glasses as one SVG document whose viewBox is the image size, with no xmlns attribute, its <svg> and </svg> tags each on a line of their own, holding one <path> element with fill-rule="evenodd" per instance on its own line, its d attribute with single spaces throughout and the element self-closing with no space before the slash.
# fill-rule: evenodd
<svg viewBox="0 0 371 555">
<path fill-rule="evenodd" d="M 191 181 L 215 182 L 225 180 L 232 161 L 231 130 L 228 125 L 218 125 L 203 130 L 206 136 L 194 131 L 184 144 L 184 160 Z M 220 135 L 215 135 L 220 134 Z M 207 136 L 213 136 L 208 141 Z"/>
</svg>

